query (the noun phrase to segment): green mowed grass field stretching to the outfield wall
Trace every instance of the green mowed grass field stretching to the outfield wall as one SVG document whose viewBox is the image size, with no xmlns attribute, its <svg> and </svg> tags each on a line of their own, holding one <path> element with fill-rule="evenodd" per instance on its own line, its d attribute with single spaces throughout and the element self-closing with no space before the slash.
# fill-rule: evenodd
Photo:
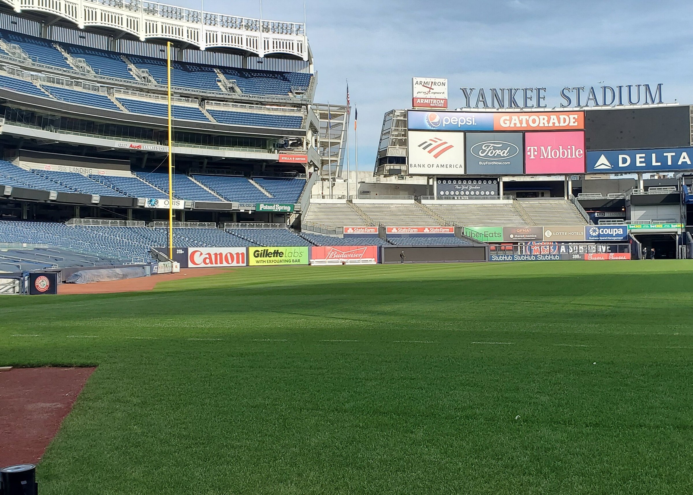
<svg viewBox="0 0 693 495">
<path fill-rule="evenodd" d="M 0 365 L 98 365 L 41 495 L 693 492 L 691 261 L 243 268 L 0 314 Z"/>
</svg>

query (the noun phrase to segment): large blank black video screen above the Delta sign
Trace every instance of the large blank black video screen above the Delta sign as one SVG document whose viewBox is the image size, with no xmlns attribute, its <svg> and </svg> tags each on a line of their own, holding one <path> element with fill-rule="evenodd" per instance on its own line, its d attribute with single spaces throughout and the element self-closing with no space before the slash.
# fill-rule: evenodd
<svg viewBox="0 0 693 495">
<path fill-rule="evenodd" d="M 587 150 L 691 146 L 688 105 L 585 112 Z"/>
</svg>

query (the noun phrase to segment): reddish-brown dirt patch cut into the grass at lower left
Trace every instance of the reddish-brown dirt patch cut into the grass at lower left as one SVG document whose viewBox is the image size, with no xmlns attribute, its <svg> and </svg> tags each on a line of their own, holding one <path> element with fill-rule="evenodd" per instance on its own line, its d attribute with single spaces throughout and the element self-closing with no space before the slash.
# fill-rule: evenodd
<svg viewBox="0 0 693 495">
<path fill-rule="evenodd" d="M 38 462 L 96 368 L 0 372 L 0 467 Z"/>
</svg>

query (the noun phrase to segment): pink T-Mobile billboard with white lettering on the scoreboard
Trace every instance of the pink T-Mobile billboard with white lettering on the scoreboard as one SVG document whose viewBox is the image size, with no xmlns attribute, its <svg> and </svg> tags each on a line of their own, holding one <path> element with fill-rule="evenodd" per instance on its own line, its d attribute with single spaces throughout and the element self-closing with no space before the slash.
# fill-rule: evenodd
<svg viewBox="0 0 693 495">
<path fill-rule="evenodd" d="M 585 133 L 527 132 L 525 173 L 585 173 Z"/>
</svg>

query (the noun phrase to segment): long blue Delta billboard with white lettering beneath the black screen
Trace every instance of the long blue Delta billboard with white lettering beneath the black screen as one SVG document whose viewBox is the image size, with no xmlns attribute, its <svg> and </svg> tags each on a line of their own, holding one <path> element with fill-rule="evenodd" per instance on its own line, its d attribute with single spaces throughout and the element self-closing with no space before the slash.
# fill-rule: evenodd
<svg viewBox="0 0 693 495">
<path fill-rule="evenodd" d="M 693 148 L 588 151 L 587 173 L 670 172 L 693 170 Z"/>
</svg>

